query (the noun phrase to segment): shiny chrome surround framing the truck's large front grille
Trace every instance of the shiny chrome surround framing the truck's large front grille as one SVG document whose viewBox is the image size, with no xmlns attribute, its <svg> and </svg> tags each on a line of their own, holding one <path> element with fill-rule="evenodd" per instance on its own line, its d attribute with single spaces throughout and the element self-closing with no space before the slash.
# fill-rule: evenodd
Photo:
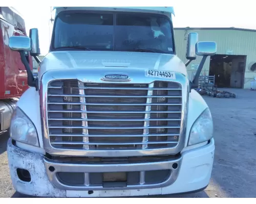
<svg viewBox="0 0 256 204">
<path fill-rule="evenodd" d="M 53 156 L 77 156 L 77 157 L 133 157 L 133 156 L 150 156 L 150 155 L 175 155 L 178 152 L 182 150 L 182 148 L 185 146 L 185 132 L 186 132 L 186 116 L 187 116 L 187 100 L 188 100 L 188 92 L 189 92 L 189 81 L 188 79 L 181 73 L 176 72 L 176 80 L 168 80 L 168 79 L 160 79 L 160 78 L 151 78 L 151 77 L 145 77 L 145 71 L 144 69 L 138 69 L 138 68 L 131 68 L 129 69 L 129 76 L 131 77 L 131 82 L 125 82 L 126 84 L 136 84 L 136 83 L 145 83 L 145 84 L 151 84 L 154 81 L 163 81 L 163 82 L 176 82 L 180 83 L 182 86 L 182 109 L 181 112 L 181 123 L 180 123 L 180 136 L 178 144 L 175 147 L 172 148 L 152 148 L 152 149 L 135 149 L 135 150 L 75 150 L 75 149 L 69 149 L 69 148 L 54 148 L 50 144 L 49 139 L 49 132 L 48 132 L 48 104 L 47 104 L 47 97 L 48 97 L 48 85 L 52 81 L 56 80 L 78 80 L 83 83 L 102 83 L 100 78 L 102 77 L 102 73 L 105 72 L 105 68 L 97 68 L 97 71 L 95 69 L 69 69 L 69 70 L 49 70 L 42 75 L 41 81 L 40 81 L 40 106 L 41 106 L 41 116 L 42 116 L 42 125 L 43 125 L 43 131 L 44 131 L 44 148 L 46 152 L 48 152 L 50 155 Z M 119 68 L 114 67 L 108 67 L 108 71 L 116 72 L 119 70 Z M 87 78 L 88 77 L 88 78 Z M 118 83 L 118 82 L 117 82 Z M 122 84 L 123 82 L 120 82 Z M 71 94 L 72 95 L 72 94 Z M 60 95 L 57 95 L 60 96 Z M 70 96 L 70 95 L 68 95 Z M 78 97 L 81 97 L 81 95 L 77 95 Z M 98 96 L 98 95 L 97 95 Z M 97 97 L 96 96 L 96 97 Z M 88 96 L 87 96 L 88 97 Z M 95 97 L 95 96 L 92 96 Z M 109 97 L 109 96 L 106 96 Z M 114 96 L 117 97 L 117 96 Z M 119 96 L 118 96 L 119 97 Z M 122 97 L 122 96 L 121 96 Z M 129 97 L 129 96 L 126 96 Z M 132 96 L 134 97 L 134 96 Z M 141 97 L 141 96 L 138 96 Z M 144 97 L 153 97 L 153 96 L 144 96 Z M 157 96 L 157 97 L 163 97 L 163 96 Z M 164 96 L 164 97 L 177 97 L 177 96 Z M 181 96 L 180 96 L 181 97 Z M 56 111 L 54 111 L 56 112 Z M 76 112 L 76 111 L 68 111 L 68 112 Z M 78 111 L 81 113 L 88 113 L 87 111 Z M 175 111 L 174 111 L 175 112 Z M 172 111 L 168 111 L 167 113 L 174 113 Z M 92 113 L 92 112 L 90 112 Z M 96 113 L 94 111 L 94 113 Z M 102 112 L 100 112 L 102 113 Z M 104 112 L 108 113 L 108 112 Z M 113 112 L 111 112 L 113 113 Z M 123 112 L 122 112 L 123 113 Z M 125 112 L 126 113 L 126 112 Z M 127 112 L 131 113 L 131 112 Z M 138 112 L 137 112 L 138 113 Z M 148 112 L 142 112 L 142 113 L 148 113 Z M 151 111 L 153 113 L 153 111 Z M 166 113 L 164 111 L 159 111 L 157 113 Z M 176 113 L 176 112 L 175 112 Z M 146 121 L 147 119 L 143 119 L 143 121 Z M 87 121 L 87 119 L 85 120 Z M 144 127 L 143 127 L 144 129 Z M 51 134 L 52 135 L 52 134 Z M 57 134 L 60 136 L 61 134 Z M 164 134 L 165 136 L 168 134 Z M 68 136 L 68 135 L 65 135 Z M 75 135 L 72 135 L 75 136 Z M 110 135 L 108 135 L 110 136 Z M 115 135 L 117 136 L 117 135 Z M 147 135 L 150 136 L 150 135 Z M 160 136 L 160 135 L 158 135 Z M 84 135 L 83 135 L 84 137 Z M 104 137 L 104 135 L 100 135 L 99 137 Z M 125 136 L 127 137 L 127 135 Z M 132 136 L 134 137 L 134 135 Z M 140 135 L 141 137 L 141 135 Z"/>
</svg>

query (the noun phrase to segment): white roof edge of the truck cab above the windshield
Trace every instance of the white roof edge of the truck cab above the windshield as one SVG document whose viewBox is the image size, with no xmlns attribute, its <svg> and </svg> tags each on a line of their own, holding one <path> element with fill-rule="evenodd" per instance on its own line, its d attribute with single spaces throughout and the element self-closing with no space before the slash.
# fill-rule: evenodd
<svg viewBox="0 0 256 204">
<path fill-rule="evenodd" d="M 56 10 L 55 15 L 68 10 L 161 13 L 168 17 L 171 17 L 172 14 L 175 15 L 173 7 L 53 7 L 53 10 Z"/>
</svg>

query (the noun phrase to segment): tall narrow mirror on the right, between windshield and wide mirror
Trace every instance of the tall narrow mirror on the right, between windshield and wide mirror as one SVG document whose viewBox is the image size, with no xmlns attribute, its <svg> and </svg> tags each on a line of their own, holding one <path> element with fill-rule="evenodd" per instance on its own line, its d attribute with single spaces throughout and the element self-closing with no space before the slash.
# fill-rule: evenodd
<svg viewBox="0 0 256 204">
<path fill-rule="evenodd" d="M 187 50 L 186 50 L 186 58 L 188 60 L 195 60 L 197 58 L 197 55 L 196 55 L 197 42 L 198 42 L 198 34 L 189 33 L 187 38 Z"/>
</svg>

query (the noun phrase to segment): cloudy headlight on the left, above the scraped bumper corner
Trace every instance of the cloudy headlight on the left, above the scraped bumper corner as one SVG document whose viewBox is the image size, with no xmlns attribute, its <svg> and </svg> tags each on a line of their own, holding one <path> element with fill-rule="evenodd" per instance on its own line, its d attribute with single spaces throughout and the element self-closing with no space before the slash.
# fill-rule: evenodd
<svg viewBox="0 0 256 204">
<path fill-rule="evenodd" d="M 35 125 L 18 107 L 12 114 L 10 137 L 18 142 L 39 146 Z"/>
</svg>

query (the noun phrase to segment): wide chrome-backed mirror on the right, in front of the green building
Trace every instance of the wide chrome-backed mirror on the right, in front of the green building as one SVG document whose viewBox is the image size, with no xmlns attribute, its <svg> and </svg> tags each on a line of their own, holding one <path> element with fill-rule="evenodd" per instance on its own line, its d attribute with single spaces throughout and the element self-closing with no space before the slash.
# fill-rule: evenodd
<svg viewBox="0 0 256 204">
<path fill-rule="evenodd" d="M 217 44 L 212 41 L 201 41 L 196 44 L 196 54 L 198 56 L 212 56 L 217 52 Z"/>
</svg>

